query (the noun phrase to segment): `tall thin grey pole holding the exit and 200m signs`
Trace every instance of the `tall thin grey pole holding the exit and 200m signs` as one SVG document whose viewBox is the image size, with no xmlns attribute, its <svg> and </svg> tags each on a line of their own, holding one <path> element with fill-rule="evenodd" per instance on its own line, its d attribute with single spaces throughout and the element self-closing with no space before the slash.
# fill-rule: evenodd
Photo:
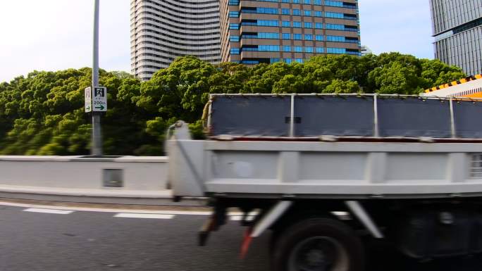
<svg viewBox="0 0 482 271">
<path fill-rule="evenodd" d="M 99 86 L 99 1 L 94 0 L 94 57 L 92 65 L 92 91 Z M 100 112 L 92 108 L 92 156 L 102 156 L 102 133 Z"/>
</svg>

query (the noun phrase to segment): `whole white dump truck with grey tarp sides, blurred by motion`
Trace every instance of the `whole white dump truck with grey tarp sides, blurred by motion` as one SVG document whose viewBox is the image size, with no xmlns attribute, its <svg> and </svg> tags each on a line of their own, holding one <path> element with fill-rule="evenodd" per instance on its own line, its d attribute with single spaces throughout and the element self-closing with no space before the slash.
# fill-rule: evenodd
<svg viewBox="0 0 482 271">
<path fill-rule="evenodd" d="M 362 271 L 363 235 L 427 260 L 482 251 L 482 103 L 381 94 L 211 94 L 208 137 L 174 125 L 176 200 L 230 210 L 241 253 L 271 230 L 273 271 Z M 170 133 L 171 134 L 171 133 Z"/>
</svg>

